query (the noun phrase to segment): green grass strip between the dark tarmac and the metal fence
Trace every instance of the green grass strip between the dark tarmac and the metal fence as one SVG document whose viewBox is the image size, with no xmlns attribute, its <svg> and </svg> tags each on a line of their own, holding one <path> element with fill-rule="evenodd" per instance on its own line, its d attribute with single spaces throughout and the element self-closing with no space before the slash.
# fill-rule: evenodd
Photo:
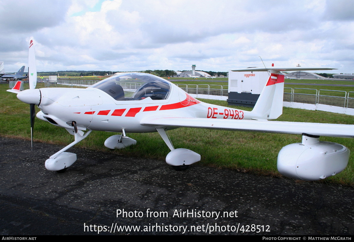
<svg viewBox="0 0 354 242">
<path fill-rule="evenodd" d="M 6 89 L 8 89 L 8 84 L 0 85 L 0 118 L 2 120 L 0 135 L 29 140 L 29 105 L 19 101 L 15 94 L 6 92 Z M 225 101 L 201 101 L 227 106 Z M 241 109 L 250 110 L 250 108 L 244 107 L 241 107 Z M 39 111 L 38 108 L 37 111 Z M 277 120 L 354 124 L 353 116 L 293 108 L 284 108 L 283 115 Z M 168 133 L 175 148 L 188 148 L 201 154 L 201 161 L 197 164 L 279 177 L 282 176 L 276 169 L 276 159 L 281 147 L 290 143 L 301 142 L 301 136 L 299 135 L 192 128 L 179 128 Z M 155 158 L 160 159 L 161 163 L 165 162 L 165 157 L 169 153 L 169 149 L 157 133 L 127 134 L 132 139 L 137 140 L 137 145 L 111 151 L 104 147 L 103 143 L 105 139 L 112 135 L 114 133 L 93 131 L 75 147 L 113 152 L 126 156 Z M 74 138 L 65 129 L 36 118 L 34 140 L 65 146 L 72 142 Z M 321 137 L 321 140 L 341 143 L 350 150 L 354 148 L 354 139 Z M 348 167 L 342 173 L 319 182 L 334 182 L 353 186 L 353 154 L 350 156 Z"/>
</svg>

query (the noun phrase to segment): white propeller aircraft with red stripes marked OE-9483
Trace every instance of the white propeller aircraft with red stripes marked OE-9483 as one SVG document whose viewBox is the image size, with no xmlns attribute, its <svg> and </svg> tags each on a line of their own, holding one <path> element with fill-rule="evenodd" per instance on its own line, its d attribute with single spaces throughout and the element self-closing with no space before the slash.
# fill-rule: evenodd
<svg viewBox="0 0 354 242">
<path fill-rule="evenodd" d="M 34 52 L 31 53 L 33 60 Z M 127 137 L 127 133 L 157 131 L 171 150 L 166 162 L 177 170 L 184 170 L 200 161 L 200 155 L 185 148 L 173 148 L 166 131 L 192 127 L 302 135 L 301 143 L 287 145 L 279 152 L 278 170 L 290 178 L 319 180 L 342 171 L 349 159 L 345 146 L 319 141 L 319 136 L 353 138 L 354 125 L 268 120 L 282 114 L 284 74 L 281 71 L 330 69 L 333 68 L 235 70 L 252 75 L 257 75 L 257 71 L 269 72 L 269 79 L 252 111 L 200 102 L 169 81 L 147 73 L 119 73 L 86 89 L 34 89 L 35 81 L 30 80 L 30 89 L 19 91 L 19 83 L 8 91 L 17 92 L 18 99 L 31 107 L 37 105 L 41 109 L 36 115 L 39 119 L 74 135 L 74 142 L 47 159 L 45 167 L 48 170 L 62 172 L 72 165 L 76 154 L 64 151 L 85 139 L 92 130 L 122 133 L 104 142 L 110 149 L 134 145 L 136 141 Z M 31 69 L 30 73 L 31 76 Z M 32 108 L 31 114 L 34 117 Z M 31 127 L 33 129 L 33 123 Z"/>
</svg>

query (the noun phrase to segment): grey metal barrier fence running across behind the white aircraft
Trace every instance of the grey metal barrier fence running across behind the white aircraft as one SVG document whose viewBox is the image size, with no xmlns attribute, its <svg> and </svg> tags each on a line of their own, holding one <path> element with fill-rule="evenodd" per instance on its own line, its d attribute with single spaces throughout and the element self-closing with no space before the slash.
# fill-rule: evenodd
<svg viewBox="0 0 354 242">
<path fill-rule="evenodd" d="M 67 88 L 86 88 L 97 83 L 99 80 L 69 80 L 59 79 L 57 81 L 38 80 L 37 88 L 67 87 Z M 9 87 L 12 88 L 16 81 L 10 81 Z M 141 83 L 122 83 L 126 90 L 137 90 Z M 214 96 L 228 96 L 228 85 L 208 85 L 208 84 L 176 84 L 179 88 L 189 94 L 205 94 Z M 21 90 L 28 89 L 28 81 L 23 81 Z M 284 88 L 285 102 L 299 102 L 309 104 L 324 104 L 337 107 L 354 108 L 354 92 L 307 89 L 307 88 Z"/>
</svg>

